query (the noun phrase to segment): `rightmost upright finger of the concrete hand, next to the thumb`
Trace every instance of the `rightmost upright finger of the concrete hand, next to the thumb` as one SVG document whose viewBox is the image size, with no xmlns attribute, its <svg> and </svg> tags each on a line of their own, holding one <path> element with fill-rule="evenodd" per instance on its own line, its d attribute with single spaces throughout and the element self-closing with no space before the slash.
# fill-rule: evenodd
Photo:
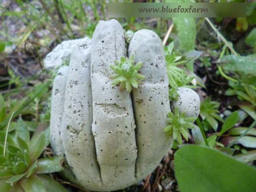
<svg viewBox="0 0 256 192">
<path fill-rule="evenodd" d="M 172 147 L 172 138 L 163 132 L 171 111 L 169 81 L 162 41 L 155 32 L 142 29 L 134 33 L 128 54 L 134 55 L 135 61 L 143 62 L 140 72 L 146 77 L 143 84 L 132 91 L 137 125 L 136 175 L 142 179 L 157 167 Z"/>
</svg>

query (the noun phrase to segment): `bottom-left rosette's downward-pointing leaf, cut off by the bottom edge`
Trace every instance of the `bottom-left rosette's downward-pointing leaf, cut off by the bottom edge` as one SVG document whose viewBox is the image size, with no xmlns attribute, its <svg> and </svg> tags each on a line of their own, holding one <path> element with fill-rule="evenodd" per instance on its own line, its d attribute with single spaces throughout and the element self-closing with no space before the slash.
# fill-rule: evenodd
<svg viewBox="0 0 256 192">
<path fill-rule="evenodd" d="M 47 192 L 43 180 L 35 174 L 28 178 L 23 177 L 20 181 L 20 185 L 25 192 Z"/>
</svg>

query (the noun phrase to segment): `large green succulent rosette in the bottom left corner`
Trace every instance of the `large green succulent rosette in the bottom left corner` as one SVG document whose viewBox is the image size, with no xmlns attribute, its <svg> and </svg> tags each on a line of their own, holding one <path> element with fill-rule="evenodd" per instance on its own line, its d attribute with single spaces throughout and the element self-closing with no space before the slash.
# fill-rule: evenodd
<svg viewBox="0 0 256 192">
<path fill-rule="evenodd" d="M 30 139 L 29 128 L 21 119 L 0 131 L 1 192 L 67 192 L 46 173 L 61 171 L 63 157 L 39 158 L 49 145 L 49 128 L 36 131 Z M 9 131 L 7 131 L 9 130 Z M 8 133 L 8 134 L 7 134 Z"/>
</svg>

